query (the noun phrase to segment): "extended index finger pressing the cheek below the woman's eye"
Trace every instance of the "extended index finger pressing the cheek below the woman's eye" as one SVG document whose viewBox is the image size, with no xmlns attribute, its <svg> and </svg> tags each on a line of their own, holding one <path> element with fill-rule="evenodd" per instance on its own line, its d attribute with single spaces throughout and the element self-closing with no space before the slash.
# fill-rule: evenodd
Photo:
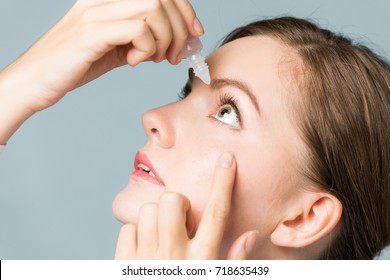
<svg viewBox="0 0 390 280">
<path fill-rule="evenodd" d="M 230 213 L 236 161 L 230 152 L 222 154 L 214 171 L 213 186 L 194 242 L 207 257 L 216 257 Z"/>
</svg>

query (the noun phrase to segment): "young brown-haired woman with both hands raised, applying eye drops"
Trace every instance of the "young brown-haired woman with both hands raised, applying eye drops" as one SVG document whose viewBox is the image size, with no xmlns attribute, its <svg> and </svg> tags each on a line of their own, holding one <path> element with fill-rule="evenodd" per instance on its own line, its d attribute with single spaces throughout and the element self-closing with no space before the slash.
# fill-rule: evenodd
<svg viewBox="0 0 390 280">
<path fill-rule="evenodd" d="M 77 2 L 1 73 L 0 140 L 126 61 L 177 63 L 186 30 L 203 32 L 186 1 Z M 116 257 L 373 258 L 390 241 L 389 64 L 294 18 L 238 28 L 207 61 L 210 85 L 190 72 L 143 117 Z"/>
</svg>

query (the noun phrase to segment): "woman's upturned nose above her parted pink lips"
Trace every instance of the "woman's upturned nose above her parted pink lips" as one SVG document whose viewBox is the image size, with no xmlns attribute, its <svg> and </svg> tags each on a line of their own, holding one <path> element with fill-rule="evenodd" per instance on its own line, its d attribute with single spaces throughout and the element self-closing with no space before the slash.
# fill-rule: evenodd
<svg viewBox="0 0 390 280">
<path fill-rule="evenodd" d="M 168 107 L 147 111 L 142 116 L 142 125 L 149 140 L 162 148 L 171 148 L 175 143 L 173 112 Z"/>
</svg>

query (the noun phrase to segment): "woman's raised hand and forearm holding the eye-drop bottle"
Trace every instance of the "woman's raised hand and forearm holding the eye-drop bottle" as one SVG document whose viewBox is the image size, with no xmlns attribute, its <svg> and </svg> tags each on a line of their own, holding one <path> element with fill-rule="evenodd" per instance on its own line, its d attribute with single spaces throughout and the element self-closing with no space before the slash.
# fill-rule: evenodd
<svg viewBox="0 0 390 280">
<path fill-rule="evenodd" d="M 202 33 L 188 0 L 77 1 L 0 73 L 0 144 L 33 113 L 115 67 L 178 63 L 187 35 Z"/>
</svg>

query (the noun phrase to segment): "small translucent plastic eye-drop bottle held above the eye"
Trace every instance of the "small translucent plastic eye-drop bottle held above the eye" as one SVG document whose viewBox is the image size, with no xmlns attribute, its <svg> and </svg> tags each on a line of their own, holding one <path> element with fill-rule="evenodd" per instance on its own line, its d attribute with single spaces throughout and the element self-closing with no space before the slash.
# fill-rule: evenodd
<svg viewBox="0 0 390 280">
<path fill-rule="evenodd" d="M 198 37 L 189 36 L 182 57 L 188 58 L 190 68 L 194 70 L 195 76 L 209 85 L 211 82 L 209 66 L 205 62 L 205 58 L 200 54 L 202 48 L 202 42 Z"/>
</svg>

